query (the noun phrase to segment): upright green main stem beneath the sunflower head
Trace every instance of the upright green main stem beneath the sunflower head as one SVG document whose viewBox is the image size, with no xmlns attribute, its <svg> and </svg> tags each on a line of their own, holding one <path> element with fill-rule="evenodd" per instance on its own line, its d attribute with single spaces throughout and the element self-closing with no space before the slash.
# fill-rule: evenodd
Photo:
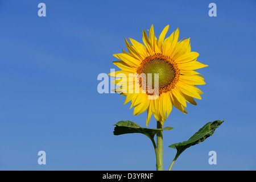
<svg viewBox="0 0 256 182">
<path fill-rule="evenodd" d="M 157 128 L 163 129 L 162 124 L 158 121 Z M 157 164 L 157 170 L 163 171 L 163 131 L 156 133 L 156 144 L 158 150 L 159 164 Z"/>
</svg>

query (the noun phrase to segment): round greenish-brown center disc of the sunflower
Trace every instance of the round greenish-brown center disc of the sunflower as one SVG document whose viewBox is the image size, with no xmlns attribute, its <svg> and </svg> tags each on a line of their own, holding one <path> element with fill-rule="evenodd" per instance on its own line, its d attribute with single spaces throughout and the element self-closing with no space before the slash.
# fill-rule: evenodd
<svg viewBox="0 0 256 182">
<path fill-rule="evenodd" d="M 137 73 L 146 75 L 146 79 L 140 81 L 142 88 L 146 88 L 146 90 L 148 84 L 152 85 L 152 89 L 154 89 L 154 73 L 158 73 L 159 94 L 173 89 L 180 75 L 176 63 L 169 56 L 163 56 L 160 53 L 146 57 L 137 69 Z M 152 75 L 148 75 L 148 73 Z M 149 76 L 152 76 L 151 83 L 148 79 Z"/>
</svg>

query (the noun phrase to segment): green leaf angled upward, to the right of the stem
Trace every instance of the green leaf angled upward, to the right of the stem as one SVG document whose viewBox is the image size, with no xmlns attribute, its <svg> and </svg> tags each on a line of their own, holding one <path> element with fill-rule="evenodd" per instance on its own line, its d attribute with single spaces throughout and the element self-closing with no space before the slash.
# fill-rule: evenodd
<svg viewBox="0 0 256 182">
<path fill-rule="evenodd" d="M 210 137 L 214 133 L 215 129 L 217 129 L 217 127 L 219 127 L 223 122 L 224 120 L 223 121 L 216 120 L 213 122 L 208 122 L 187 141 L 171 144 L 169 147 L 176 148 L 177 150 L 175 159 L 177 159 L 177 157 L 188 147 L 191 147 L 195 144 L 199 144 L 200 142 L 203 142 L 205 139 Z"/>
</svg>

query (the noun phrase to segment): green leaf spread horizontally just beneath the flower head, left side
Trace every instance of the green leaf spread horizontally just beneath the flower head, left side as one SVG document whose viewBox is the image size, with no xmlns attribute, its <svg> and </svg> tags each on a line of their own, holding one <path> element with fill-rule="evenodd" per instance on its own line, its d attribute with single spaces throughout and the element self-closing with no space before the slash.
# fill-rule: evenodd
<svg viewBox="0 0 256 182">
<path fill-rule="evenodd" d="M 114 126 L 114 135 L 142 133 L 150 139 L 154 139 L 155 134 L 159 131 L 174 129 L 173 127 L 164 127 L 163 129 L 148 129 L 141 127 L 132 121 L 119 121 Z"/>
</svg>

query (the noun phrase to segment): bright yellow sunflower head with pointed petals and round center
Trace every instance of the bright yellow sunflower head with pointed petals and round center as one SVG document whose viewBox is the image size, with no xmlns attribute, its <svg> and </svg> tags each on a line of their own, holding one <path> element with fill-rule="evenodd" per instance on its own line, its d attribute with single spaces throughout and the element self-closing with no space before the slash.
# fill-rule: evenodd
<svg viewBox="0 0 256 182">
<path fill-rule="evenodd" d="M 194 98 L 201 99 L 203 94 L 195 85 L 205 84 L 204 78 L 194 70 L 208 65 L 196 61 L 199 53 L 191 52 L 189 38 L 178 41 L 179 28 L 164 39 L 168 28 L 163 29 L 159 39 L 153 25 L 148 31 L 149 38 L 143 30 L 144 45 L 129 38 L 130 44 L 125 38 L 128 52 L 113 55 L 119 59 L 113 64 L 121 69 L 109 73 L 115 77 L 112 83 L 119 85 L 114 91 L 126 96 L 124 104 L 131 101 L 135 115 L 147 110 L 146 125 L 152 114 L 163 125 L 172 106 L 187 114 L 187 102 L 197 105 Z M 151 84 L 145 80 L 151 80 Z M 157 86 L 152 85 L 154 81 L 158 81 Z"/>
</svg>

